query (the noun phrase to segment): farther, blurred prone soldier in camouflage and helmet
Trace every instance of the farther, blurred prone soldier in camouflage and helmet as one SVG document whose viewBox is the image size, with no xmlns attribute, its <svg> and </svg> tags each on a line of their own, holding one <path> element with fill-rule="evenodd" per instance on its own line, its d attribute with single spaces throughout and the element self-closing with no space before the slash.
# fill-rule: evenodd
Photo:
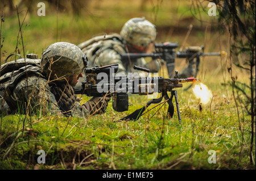
<svg viewBox="0 0 256 181">
<path fill-rule="evenodd" d="M 135 73 L 140 76 L 145 74 L 142 71 L 134 70 L 137 65 L 142 68 L 150 69 L 151 72 L 158 72 L 160 64 L 157 60 L 147 63 L 144 58 L 138 58 L 135 62 L 124 62 L 121 60 L 121 53 L 148 53 L 154 46 L 156 38 L 155 25 L 145 18 L 132 18 L 122 27 L 120 34 L 101 35 L 93 37 L 78 45 L 82 52 L 89 58 L 89 67 L 118 64 L 117 73 Z M 84 76 L 85 77 L 85 76 Z M 81 78 L 76 88 L 80 88 Z"/>
</svg>

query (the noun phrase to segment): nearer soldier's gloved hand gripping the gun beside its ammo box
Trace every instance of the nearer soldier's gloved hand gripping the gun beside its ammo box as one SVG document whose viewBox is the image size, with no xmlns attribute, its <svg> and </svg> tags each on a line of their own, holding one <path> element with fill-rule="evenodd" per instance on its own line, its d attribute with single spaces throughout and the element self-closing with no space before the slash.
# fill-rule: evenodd
<svg viewBox="0 0 256 181">
<path fill-rule="evenodd" d="M 106 108 L 108 107 L 108 102 L 110 99 L 111 98 L 108 96 L 93 97 L 82 106 L 86 107 L 86 109 L 90 112 L 90 115 L 102 114 L 106 112 Z"/>
</svg>

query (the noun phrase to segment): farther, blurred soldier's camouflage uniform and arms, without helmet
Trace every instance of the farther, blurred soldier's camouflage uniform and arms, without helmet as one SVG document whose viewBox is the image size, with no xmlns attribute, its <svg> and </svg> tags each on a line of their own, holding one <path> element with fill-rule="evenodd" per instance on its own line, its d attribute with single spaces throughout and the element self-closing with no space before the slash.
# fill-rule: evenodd
<svg viewBox="0 0 256 181">
<path fill-rule="evenodd" d="M 151 67 L 144 58 L 138 58 L 137 61 L 133 62 L 123 62 L 120 54 L 127 53 L 127 50 L 122 37 L 117 33 L 93 37 L 79 44 L 78 47 L 81 48 L 82 52 L 88 57 L 89 67 L 118 64 L 117 73 L 123 73 L 125 75 L 128 73 L 138 73 L 141 77 L 144 77 L 146 74 L 140 70 L 134 70 L 134 65 L 147 69 L 155 67 L 156 72 L 160 69 L 156 60 L 152 61 L 154 66 Z M 81 82 L 85 81 L 85 79 L 86 75 L 83 73 L 83 77 L 79 79 L 79 83 L 77 83 L 75 89 L 80 89 Z"/>
</svg>

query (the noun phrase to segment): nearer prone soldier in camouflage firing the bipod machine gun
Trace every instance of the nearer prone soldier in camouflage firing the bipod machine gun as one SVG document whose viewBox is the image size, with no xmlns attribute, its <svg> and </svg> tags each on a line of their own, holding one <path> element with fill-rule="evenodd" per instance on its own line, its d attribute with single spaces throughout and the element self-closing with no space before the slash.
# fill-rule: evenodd
<svg viewBox="0 0 256 181">
<path fill-rule="evenodd" d="M 23 60 L 17 60 L 15 64 L 20 61 Z M 13 87 L 12 91 L 5 94 L 7 98 L 1 95 L 9 105 L 3 105 L 1 99 L 1 108 L 5 109 L 1 109 L 0 113 L 26 113 L 27 108 L 31 108 L 32 113 L 41 112 L 43 115 L 85 117 L 105 112 L 108 100 L 93 97 L 81 106 L 76 99 L 73 86 L 88 66 L 88 58 L 76 45 L 54 43 L 44 50 L 38 62 L 40 64 L 20 68 L 20 73 L 11 79 L 6 90 Z M 8 110 L 8 106 L 14 110 Z"/>
</svg>

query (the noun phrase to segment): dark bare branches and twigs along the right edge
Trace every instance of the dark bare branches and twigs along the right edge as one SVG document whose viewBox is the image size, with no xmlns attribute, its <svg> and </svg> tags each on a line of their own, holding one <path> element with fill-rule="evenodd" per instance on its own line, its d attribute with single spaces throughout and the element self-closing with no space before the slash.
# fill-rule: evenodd
<svg viewBox="0 0 256 181">
<path fill-rule="evenodd" d="M 255 164 L 253 146 L 255 139 L 255 1 L 225 0 L 222 7 L 218 1 L 213 1 L 221 9 L 219 22 L 228 27 L 231 46 L 230 56 L 244 57 L 242 61 L 235 58 L 234 65 L 249 73 L 249 83 L 237 81 L 230 66 L 231 85 L 237 91 L 240 106 L 251 116 L 251 154 L 250 162 Z M 234 95 L 234 91 L 233 91 Z M 235 96 L 235 95 L 234 95 Z M 238 106 L 238 105 L 237 105 Z M 239 113 L 238 113 L 239 116 Z M 239 118 L 239 117 L 238 117 Z M 240 121 L 240 120 L 239 120 Z"/>
</svg>

